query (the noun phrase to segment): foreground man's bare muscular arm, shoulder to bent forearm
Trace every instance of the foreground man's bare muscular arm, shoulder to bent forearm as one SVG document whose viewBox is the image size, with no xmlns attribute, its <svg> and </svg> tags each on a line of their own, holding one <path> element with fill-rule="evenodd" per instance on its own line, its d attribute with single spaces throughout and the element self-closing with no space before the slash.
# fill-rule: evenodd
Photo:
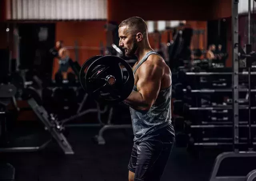
<svg viewBox="0 0 256 181">
<path fill-rule="evenodd" d="M 138 111 L 148 111 L 154 104 L 161 87 L 163 69 L 152 62 L 141 65 L 137 90 L 132 91 L 124 100 L 126 104 Z"/>
</svg>

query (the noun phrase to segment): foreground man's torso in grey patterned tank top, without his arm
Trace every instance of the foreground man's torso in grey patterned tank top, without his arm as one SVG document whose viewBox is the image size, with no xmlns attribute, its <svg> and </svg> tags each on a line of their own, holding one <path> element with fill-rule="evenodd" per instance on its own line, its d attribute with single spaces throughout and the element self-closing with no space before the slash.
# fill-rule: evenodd
<svg viewBox="0 0 256 181">
<path fill-rule="evenodd" d="M 140 142 L 142 140 L 150 138 L 150 136 L 157 133 L 158 130 L 167 129 L 169 135 L 174 136 L 174 129 L 171 124 L 171 74 L 168 65 L 160 57 L 156 59 L 158 62 L 152 61 L 152 56 L 159 56 L 155 52 L 151 52 L 149 56 L 145 56 L 140 62 L 135 63 L 132 67 L 134 72 L 134 89 L 133 91 L 139 91 L 136 87 L 140 77 L 140 71 L 147 68 L 147 63 L 158 63 L 164 69 L 164 73 L 161 79 L 161 87 L 156 98 L 155 103 L 146 113 L 138 112 L 130 108 L 132 124 L 134 129 L 134 141 Z M 147 62 L 148 61 L 148 62 Z M 160 62 L 163 61 L 163 62 Z M 139 67 L 138 67 L 139 66 Z"/>
</svg>

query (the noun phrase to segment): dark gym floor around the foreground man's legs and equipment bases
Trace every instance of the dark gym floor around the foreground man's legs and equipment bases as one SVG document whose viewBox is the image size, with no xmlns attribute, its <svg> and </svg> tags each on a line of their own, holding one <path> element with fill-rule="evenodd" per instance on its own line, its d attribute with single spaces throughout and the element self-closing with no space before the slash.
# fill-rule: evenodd
<svg viewBox="0 0 256 181">
<path fill-rule="evenodd" d="M 127 165 L 133 138 L 131 130 L 106 131 L 106 145 L 92 141 L 99 128 L 71 127 L 68 130 L 67 138 L 74 155 L 64 155 L 52 142 L 40 152 L 1 153 L 0 159 L 15 167 L 16 181 L 128 180 Z M 214 157 L 198 159 L 190 155 L 186 148 L 174 147 L 162 181 L 206 181 L 213 163 Z"/>
</svg>

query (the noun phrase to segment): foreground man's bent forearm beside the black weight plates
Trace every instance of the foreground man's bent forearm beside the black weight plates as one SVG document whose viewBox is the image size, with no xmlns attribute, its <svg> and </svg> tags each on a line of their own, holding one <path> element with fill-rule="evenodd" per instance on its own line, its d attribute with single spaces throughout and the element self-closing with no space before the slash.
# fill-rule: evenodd
<svg viewBox="0 0 256 181">
<path fill-rule="evenodd" d="M 142 94 L 136 91 L 132 91 L 130 96 L 124 100 L 124 103 L 138 111 L 146 111 L 149 107 Z"/>
</svg>

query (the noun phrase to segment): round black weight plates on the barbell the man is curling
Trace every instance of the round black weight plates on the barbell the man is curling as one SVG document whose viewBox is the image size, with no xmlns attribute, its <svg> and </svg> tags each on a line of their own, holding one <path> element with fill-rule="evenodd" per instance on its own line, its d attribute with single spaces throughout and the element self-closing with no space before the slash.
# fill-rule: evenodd
<svg viewBox="0 0 256 181">
<path fill-rule="evenodd" d="M 114 55 L 96 55 L 80 69 L 82 88 L 97 102 L 114 104 L 125 100 L 134 87 L 132 67 Z"/>
</svg>

